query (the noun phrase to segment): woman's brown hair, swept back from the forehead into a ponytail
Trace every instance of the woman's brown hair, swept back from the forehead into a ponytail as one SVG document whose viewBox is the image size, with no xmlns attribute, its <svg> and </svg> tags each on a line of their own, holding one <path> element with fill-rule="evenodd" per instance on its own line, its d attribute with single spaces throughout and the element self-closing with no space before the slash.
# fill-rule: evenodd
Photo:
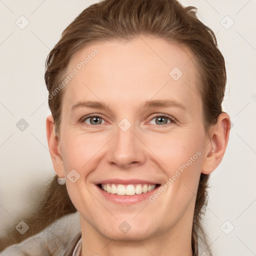
<svg viewBox="0 0 256 256">
<path fill-rule="evenodd" d="M 49 92 L 48 104 L 54 118 L 56 136 L 60 134 L 61 98 L 65 87 L 55 93 L 55 96 L 52 95 L 63 81 L 68 63 L 74 54 L 88 44 L 109 38 L 130 40 L 139 35 L 155 36 L 190 49 L 200 76 L 198 91 L 203 104 L 203 124 L 209 134 L 210 125 L 216 123 L 218 115 L 222 112 L 226 72 L 224 58 L 217 47 L 215 35 L 209 27 L 198 20 L 196 10 L 193 6 L 183 7 L 176 0 L 102 0 L 84 9 L 64 29 L 45 63 L 44 78 Z M 207 205 L 208 179 L 209 175 L 201 173 L 193 216 L 193 252 L 198 237 L 208 246 L 207 235 L 201 223 Z M 54 187 L 55 183 L 56 177 L 50 185 Z M 66 193 L 65 185 L 61 186 L 61 189 Z M 52 202 L 48 204 L 52 209 L 45 212 L 44 207 L 47 203 L 41 209 L 40 216 L 43 219 L 40 221 L 44 222 L 44 226 L 74 210 L 65 193 L 64 202 L 58 196 L 54 198 L 48 194 L 46 200 Z M 67 207 L 61 210 L 57 207 L 58 210 L 55 212 L 56 204 L 61 203 Z M 208 251 L 210 253 L 209 249 Z"/>
</svg>

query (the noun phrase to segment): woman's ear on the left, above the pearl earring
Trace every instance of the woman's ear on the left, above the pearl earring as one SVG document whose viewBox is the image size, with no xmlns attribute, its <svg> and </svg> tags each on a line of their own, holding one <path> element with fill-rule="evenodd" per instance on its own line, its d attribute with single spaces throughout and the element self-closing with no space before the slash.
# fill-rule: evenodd
<svg viewBox="0 0 256 256">
<path fill-rule="evenodd" d="M 64 165 L 63 165 L 63 160 L 61 156 L 60 142 L 57 136 L 55 135 L 53 121 L 54 120 L 52 115 L 51 114 L 48 115 L 46 118 L 46 134 L 47 134 L 48 147 L 49 147 L 50 157 L 51 157 L 55 172 L 57 173 L 58 177 L 64 177 L 65 171 L 64 171 Z"/>
</svg>

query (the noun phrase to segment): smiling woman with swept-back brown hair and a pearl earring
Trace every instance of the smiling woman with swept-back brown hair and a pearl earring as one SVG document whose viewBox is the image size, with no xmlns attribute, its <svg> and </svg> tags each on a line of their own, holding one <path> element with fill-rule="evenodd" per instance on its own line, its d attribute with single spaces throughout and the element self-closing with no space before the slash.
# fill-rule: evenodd
<svg viewBox="0 0 256 256">
<path fill-rule="evenodd" d="M 50 51 L 45 82 L 57 176 L 37 232 L 77 210 L 81 232 L 63 255 L 198 255 L 198 240 L 207 247 L 207 182 L 230 118 L 221 109 L 224 58 L 195 8 L 92 4 Z"/>
</svg>

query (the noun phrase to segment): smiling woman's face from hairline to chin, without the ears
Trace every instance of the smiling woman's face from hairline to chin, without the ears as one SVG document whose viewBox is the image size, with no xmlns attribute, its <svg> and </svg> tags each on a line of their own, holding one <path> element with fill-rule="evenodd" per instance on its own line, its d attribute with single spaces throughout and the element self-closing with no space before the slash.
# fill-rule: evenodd
<svg viewBox="0 0 256 256">
<path fill-rule="evenodd" d="M 209 142 L 192 54 L 154 37 L 105 41 L 66 75 L 57 172 L 82 228 L 123 240 L 191 228 Z"/>
</svg>

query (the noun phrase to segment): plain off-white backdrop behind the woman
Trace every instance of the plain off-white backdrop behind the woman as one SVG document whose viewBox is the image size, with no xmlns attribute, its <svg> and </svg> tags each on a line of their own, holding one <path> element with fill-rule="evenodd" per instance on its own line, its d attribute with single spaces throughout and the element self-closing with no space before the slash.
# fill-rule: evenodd
<svg viewBox="0 0 256 256">
<path fill-rule="evenodd" d="M 55 174 L 45 131 L 50 111 L 44 62 L 62 30 L 94 2 L 0 0 L 0 236 L 37 206 L 43 185 Z M 210 179 L 210 246 L 218 256 L 256 255 L 256 1 L 181 3 L 196 6 L 199 19 L 216 34 L 228 77 L 222 106 L 232 127 Z"/>
</svg>

